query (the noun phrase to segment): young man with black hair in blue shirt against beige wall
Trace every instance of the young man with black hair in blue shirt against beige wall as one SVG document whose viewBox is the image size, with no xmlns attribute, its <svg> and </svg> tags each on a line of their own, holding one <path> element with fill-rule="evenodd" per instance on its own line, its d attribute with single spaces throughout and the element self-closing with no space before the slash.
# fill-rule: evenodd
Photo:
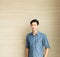
<svg viewBox="0 0 60 57">
<path fill-rule="evenodd" d="M 26 36 L 26 57 L 48 57 L 50 46 L 47 36 L 38 31 L 39 21 L 33 19 L 30 25 L 32 32 Z"/>
</svg>

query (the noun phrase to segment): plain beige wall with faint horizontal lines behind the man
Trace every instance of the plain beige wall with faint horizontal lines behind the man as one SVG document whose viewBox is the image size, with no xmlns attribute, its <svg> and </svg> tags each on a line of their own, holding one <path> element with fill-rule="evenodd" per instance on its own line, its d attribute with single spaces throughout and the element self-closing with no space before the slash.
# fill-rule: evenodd
<svg viewBox="0 0 60 57">
<path fill-rule="evenodd" d="M 60 0 L 0 0 L 0 57 L 25 57 L 30 20 L 50 42 L 49 57 L 60 57 Z"/>
</svg>

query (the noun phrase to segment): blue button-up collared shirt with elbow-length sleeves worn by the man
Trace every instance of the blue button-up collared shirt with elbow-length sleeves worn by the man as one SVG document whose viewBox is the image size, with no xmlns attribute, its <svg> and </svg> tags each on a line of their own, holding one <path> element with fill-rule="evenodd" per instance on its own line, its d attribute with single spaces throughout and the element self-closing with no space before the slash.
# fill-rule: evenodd
<svg viewBox="0 0 60 57">
<path fill-rule="evenodd" d="M 29 33 L 26 36 L 26 48 L 29 49 L 28 57 L 44 57 L 44 47 L 50 48 L 47 36 L 44 33 L 37 32 L 34 36 Z"/>
</svg>

